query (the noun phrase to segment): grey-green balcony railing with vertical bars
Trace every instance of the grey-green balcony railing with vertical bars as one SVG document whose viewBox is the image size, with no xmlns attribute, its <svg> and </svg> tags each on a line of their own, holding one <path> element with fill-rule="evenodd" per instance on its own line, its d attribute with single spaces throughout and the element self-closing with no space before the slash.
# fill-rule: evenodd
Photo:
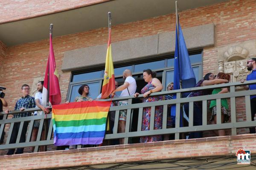
<svg viewBox="0 0 256 170">
<path fill-rule="evenodd" d="M 105 139 L 125 139 L 125 144 L 128 144 L 129 138 L 140 137 L 140 136 L 151 136 L 151 135 L 164 135 L 164 134 L 175 134 L 175 139 L 180 139 L 180 133 L 189 133 L 189 132 L 197 132 L 197 131 L 207 131 L 207 130 L 221 130 L 221 129 L 231 129 L 231 135 L 237 134 L 237 128 L 244 128 L 244 127 L 254 127 L 256 123 L 251 121 L 251 113 L 250 113 L 250 95 L 256 95 L 256 90 L 251 91 L 236 91 L 236 86 L 241 85 L 250 85 L 256 84 L 256 80 L 251 80 L 244 82 L 241 84 L 240 82 L 228 83 L 228 84 L 220 84 L 220 85 L 210 85 L 204 87 L 197 87 L 197 88 L 188 88 L 188 89 L 181 89 L 181 90 L 174 90 L 174 91 L 163 91 L 152 93 L 150 96 L 165 96 L 169 94 L 176 94 L 177 99 L 171 100 L 163 100 L 157 102 L 145 102 L 145 103 L 132 103 L 132 99 L 134 96 L 127 96 L 127 97 L 119 97 L 113 98 L 112 101 L 120 101 L 120 100 L 128 100 L 128 105 L 123 106 L 113 106 L 110 108 L 110 111 L 115 111 L 115 120 L 113 125 L 113 133 L 106 134 Z M 214 94 L 214 95 L 207 95 L 207 96 L 195 96 L 195 97 L 187 97 L 181 98 L 181 94 L 186 92 L 198 91 L 198 90 L 209 90 L 214 88 L 229 88 L 228 93 L 224 94 Z M 245 98 L 245 115 L 246 121 L 244 122 L 237 122 L 236 121 L 236 97 L 244 97 Z M 138 98 L 143 98 L 143 95 L 139 95 Z M 217 107 L 217 123 L 214 125 L 207 125 L 207 101 L 216 99 L 216 107 Z M 230 99 L 230 113 L 231 118 L 230 122 L 221 123 L 221 99 Z M 109 101 L 110 99 L 105 99 L 101 101 Z M 203 114 L 202 114 L 202 125 L 194 126 L 193 125 L 193 102 L 202 101 L 203 104 Z M 189 123 L 187 127 L 180 127 L 180 107 L 184 103 L 189 103 Z M 176 105 L 176 118 L 175 118 L 175 127 L 167 128 L 167 107 L 168 105 Z M 154 116 L 150 118 L 150 129 L 147 131 L 142 131 L 142 118 L 143 118 L 143 108 L 151 107 L 151 115 L 154 115 L 154 110 L 156 106 L 163 106 L 163 128 L 154 130 Z M 119 121 L 119 111 L 120 110 L 127 110 L 127 119 L 125 125 L 125 133 L 118 133 L 118 121 Z M 137 123 L 137 130 L 131 131 L 131 125 L 134 122 L 131 122 L 131 117 L 133 116 L 133 111 L 138 110 L 138 123 Z M 33 111 L 40 111 L 40 108 L 31 108 L 26 109 L 22 112 L 33 112 Z M 11 111 L 9 114 L 17 114 L 22 113 L 21 111 Z M 5 149 L 12 149 L 12 148 L 20 148 L 20 147 L 32 147 L 35 146 L 34 152 L 38 151 L 38 147 L 42 145 L 52 145 L 53 139 L 52 138 L 52 114 L 47 115 L 38 115 L 38 116 L 28 116 L 28 117 L 21 117 L 16 119 L 6 119 L 7 115 L 4 113 L 0 113 L 3 116 L 3 120 L 0 120 L 0 134 L 3 133 L 4 127 L 7 124 L 10 124 L 9 132 L 7 135 L 6 142 L 0 145 L 0 150 Z M 40 140 L 41 132 L 43 130 L 45 119 L 50 119 L 49 121 L 49 129 L 47 133 L 47 137 L 45 140 Z M 35 142 L 30 142 L 33 123 L 35 120 L 40 120 L 40 125 L 38 128 L 38 135 Z M 15 144 L 9 144 L 12 129 L 15 122 L 20 122 L 20 128 L 17 136 L 17 140 Z M 22 127 L 24 122 L 29 122 L 26 142 L 19 143 L 20 135 L 22 131 Z"/>
</svg>

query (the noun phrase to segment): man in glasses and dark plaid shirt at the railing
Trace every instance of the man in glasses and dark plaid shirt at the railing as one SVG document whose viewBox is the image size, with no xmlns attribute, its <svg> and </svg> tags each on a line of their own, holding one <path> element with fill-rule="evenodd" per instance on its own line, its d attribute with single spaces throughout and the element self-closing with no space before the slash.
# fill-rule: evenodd
<svg viewBox="0 0 256 170">
<path fill-rule="evenodd" d="M 29 90 L 30 90 L 29 85 L 24 84 L 21 86 L 22 97 L 18 99 L 18 101 L 16 102 L 14 110 L 24 111 L 26 108 L 35 108 L 35 98 L 29 96 Z M 7 110 L 6 112 L 8 113 L 9 111 Z M 13 116 L 13 118 L 20 118 L 20 117 L 26 117 L 26 116 L 31 116 L 31 113 L 29 112 L 17 113 Z M 24 122 L 21 135 L 20 135 L 20 143 L 25 142 L 26 140 L 26 131 L 27 131 L 28 125 L 29 125 L 29 122 Z M 19 128 L 20 128 L 20 122 L 14 123 L 10 144 L 16 143 Z M 23 153 L 23 150 L 24 148 L 17 148 L 15 154 Z M 14 151 L 15 149 L 9 149 L 7 155 L 13 155 Z"/>
</svg>

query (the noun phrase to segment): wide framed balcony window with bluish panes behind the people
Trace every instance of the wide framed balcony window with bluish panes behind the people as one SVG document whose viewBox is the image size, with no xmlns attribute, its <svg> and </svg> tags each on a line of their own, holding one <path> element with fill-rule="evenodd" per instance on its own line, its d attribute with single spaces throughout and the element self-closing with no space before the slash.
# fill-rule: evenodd
<svg viewBox="0 0 256 170">
<path fill-rule="evenodd" d="M 200 80 L 202 77 L 202 52 L 194 52 L 189 54 L 190 62 L 195 73 L 196 80 Z M 129 69 L 133 73 L 133 77 L 137 81 L 138 90 L 140 86 L 144 87 L 145 82 L 142 74 L 143 70 L 150 68 L 152 71 L 157 71 L 157 78 L 162 81 L 163 91 L 166 89 L 166 85 L 169 82 L 173 82 L 173 70 L 174 70 L 174 57 L 167 56 L 166 58 L 161 57 L 159 60 L 154 59 L 150 61 L 146 59 L 144 61 L 134 61 L 137 63 L 128 64 L 125 66 L 119 66 L 114 68 L 115 79 L 121 85 L 123 83 L 122 73 L 125 69 Z M 115 66 L 115 65 L 114 65 Z M 88 72 L 73 72 L 70 81 L 69 91 L 67 99 L 70 102 L 74 102 L 76 96 L 79 96 L 78 89 L 81 85 L 87 84 L 90 87 L 90 97 L 95 99 L 100 93 L 103 82 L 104 68 Z M 121 93 L 121 92 L 119 92 Z"/>
</svg>

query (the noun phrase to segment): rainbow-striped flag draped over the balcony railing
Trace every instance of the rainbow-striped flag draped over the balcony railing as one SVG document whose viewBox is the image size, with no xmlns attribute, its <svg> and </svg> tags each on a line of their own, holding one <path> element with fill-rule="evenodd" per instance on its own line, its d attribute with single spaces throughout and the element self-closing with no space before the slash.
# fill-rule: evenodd
<svg viewBox="0 0 256 170">
<path fill-rule="evenodd" d="M 111 101 L 53 105 L 54 144 L 101 144 L 110 105 Z"/>
</svg>

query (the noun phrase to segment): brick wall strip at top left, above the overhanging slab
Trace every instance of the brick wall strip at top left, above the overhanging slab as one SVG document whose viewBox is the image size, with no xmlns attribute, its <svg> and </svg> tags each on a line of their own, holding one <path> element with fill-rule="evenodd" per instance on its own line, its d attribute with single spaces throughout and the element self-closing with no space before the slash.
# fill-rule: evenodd
<svg viewBox="0 0 256 170">
<path fill-rule="evenodd" d="M 2 0 L 0 23 L 22 20 L 109 0 Z"/>
</svg>

